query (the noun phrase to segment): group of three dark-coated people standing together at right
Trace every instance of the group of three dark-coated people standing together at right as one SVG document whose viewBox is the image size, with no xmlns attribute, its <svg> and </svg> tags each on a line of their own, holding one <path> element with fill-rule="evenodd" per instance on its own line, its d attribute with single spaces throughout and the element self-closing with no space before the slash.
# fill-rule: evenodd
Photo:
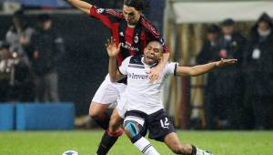
<svg viewBox="0 0 273 155">
<path fill-rule="evenodd" d="M 228 18 L 207 27 L 207 39 L 197 56 L 204 64 L 237 58 L 236 67 L 208 73 L 205 88 L 207 129 L 272 129 L 273 23 L 262 14 L 248 37 L 234 29 Z"/>
</svg>

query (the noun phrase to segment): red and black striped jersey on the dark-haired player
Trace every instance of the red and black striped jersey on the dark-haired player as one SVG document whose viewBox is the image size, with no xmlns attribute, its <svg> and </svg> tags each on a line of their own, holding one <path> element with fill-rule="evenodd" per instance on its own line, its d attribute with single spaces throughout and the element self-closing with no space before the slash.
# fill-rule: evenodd
<svg viewBox="0 0 273 155">
<path fill-rule="evenodd" d="M 169 52 L 163 38 L 155 26 L 152 26 L 145 17 L 141 16 L 134 28 L 127 26 L 122 12 L 114 9 L 91 7 L 90 16 L 101 20 L 112 33 L 116 45 L 121 43 L 121 52 L 117 55 L 118 66 L 129 56 L 142 55 L 149 40 L 158 40 L 164 47 L 164 52 Z"/>
</svg>

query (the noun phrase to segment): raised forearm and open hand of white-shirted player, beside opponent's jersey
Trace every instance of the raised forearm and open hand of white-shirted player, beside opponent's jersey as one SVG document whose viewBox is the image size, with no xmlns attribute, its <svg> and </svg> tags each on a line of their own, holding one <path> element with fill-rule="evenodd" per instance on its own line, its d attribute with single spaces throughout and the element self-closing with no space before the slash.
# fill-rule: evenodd
<svg viewBox="0 0 273 155">
<path fill-rule="evenodd" d="M 107 40 L 106 49 L 109 56 L 109 66 L 108 72 L 112 82 L 116 82 L 119 79 L 123 78 L 123 76 L 119 73 L 118 67 L 116 64 L 116 55 L 120 51 L 120 44 L 116 47 L 116 42 L 114 38 L 111 36 L 110 39 Z"/>
</svg>

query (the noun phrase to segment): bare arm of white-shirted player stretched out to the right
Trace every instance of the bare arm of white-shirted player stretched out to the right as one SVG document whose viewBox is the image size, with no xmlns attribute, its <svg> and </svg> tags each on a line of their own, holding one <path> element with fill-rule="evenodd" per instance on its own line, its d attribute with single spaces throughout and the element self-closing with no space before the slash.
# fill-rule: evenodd
<svg viewBox="0 0 273 155">
<path fill-rule="evenodd" d="M 207 73 L 209 70 L 215 67 L 234 65 L 237 61 L 237 59 L 221 59 L 217 62 L 212 62 L 205 65 L 198 65 L 195 67 L 177 67 L 177 76 L 197 77 L 199 75 Z"/>
</svg>

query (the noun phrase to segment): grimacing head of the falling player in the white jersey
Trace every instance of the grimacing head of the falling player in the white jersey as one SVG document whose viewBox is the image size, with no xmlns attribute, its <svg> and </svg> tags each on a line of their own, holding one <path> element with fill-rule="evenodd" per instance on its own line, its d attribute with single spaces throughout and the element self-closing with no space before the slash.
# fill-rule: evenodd
<svg viewBox="0 0 273 155">
<path fill-rule="evenodd" d="M 144 48 L 144 62 L 148 65 L 156 63 L 162 56 L 162 47 L 158 42 L 150 42 Z"/>
</svg>

